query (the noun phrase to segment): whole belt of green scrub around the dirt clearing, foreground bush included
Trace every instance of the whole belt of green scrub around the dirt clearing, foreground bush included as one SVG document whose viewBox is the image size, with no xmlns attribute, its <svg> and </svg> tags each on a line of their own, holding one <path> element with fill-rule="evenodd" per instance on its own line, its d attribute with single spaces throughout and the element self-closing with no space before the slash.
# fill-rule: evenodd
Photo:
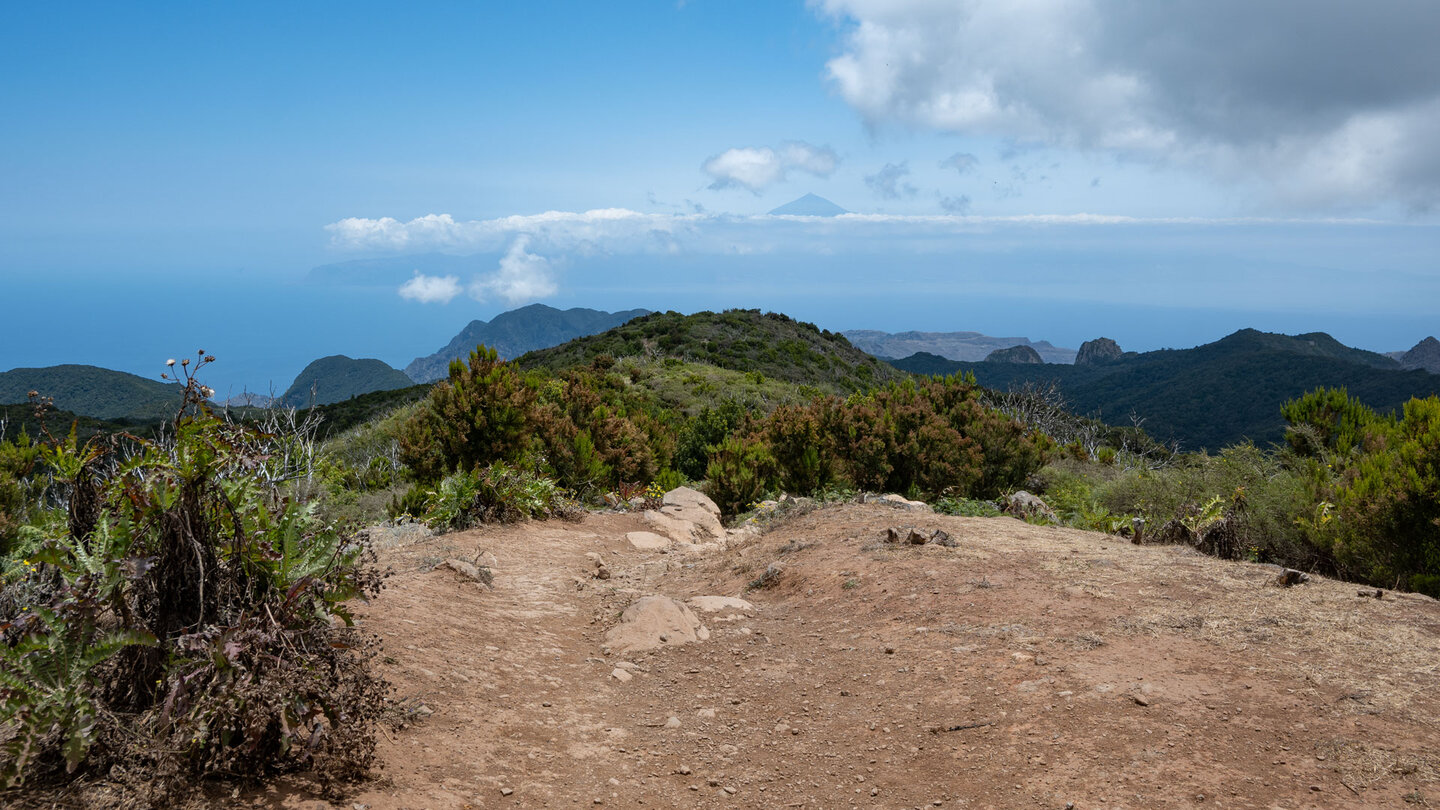
<svg viewBox="0 0 1440 810">
<path fill-rule="evenodd" d="M 209 775 L 363 774 L 386 703 L 350 602 L 380 578 L 351 538 L 386 516 L 564 519 L 684 483 L 732 516 L 782 491 L 988 516 L 1028 489 L 1070 526 L 1440 595 L 1434 396 L 1380 415 L 1320 389 L 1284 406 L 1283 445 L 1181 454 L 1054 391 L 841 380 L 874 369 L 844 337 L 704 316 L 675 333 L 698 344 L 654 331 L 667 314 L 518 362 L 477 347 L 328 432 L 323 411 L 215 414 L 199 355 L 154 435 L 3 435 L 0 778 L 107 774 L 161 801 Z"/>
</svg>

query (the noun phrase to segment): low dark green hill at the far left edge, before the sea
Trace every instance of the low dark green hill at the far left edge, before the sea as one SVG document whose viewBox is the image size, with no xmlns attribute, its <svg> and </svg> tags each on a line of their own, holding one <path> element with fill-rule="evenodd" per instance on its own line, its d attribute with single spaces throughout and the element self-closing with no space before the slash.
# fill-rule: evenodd
<svg viewBox="0 0 1440 810">
<path fill-rule="evenodd" d="M 157 419 L 180 405 L 176 385 L 98 366 L 46 366 L 0 373 L 0 404 L 27 401 L 30 391 L 53 396 L 55 406 L 96 419 Z"/>
</svg>

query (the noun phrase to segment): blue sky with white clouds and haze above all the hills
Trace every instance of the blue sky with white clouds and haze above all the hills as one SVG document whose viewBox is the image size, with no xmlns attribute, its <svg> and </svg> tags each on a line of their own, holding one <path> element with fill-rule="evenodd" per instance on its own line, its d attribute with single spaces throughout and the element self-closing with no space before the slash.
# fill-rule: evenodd
<svg viewBox="0 0 1440 810">
<path fill-rule="evenodd" d="M 4 4 L 0 369 L 204 347 L 282 389 L 536 300 L 1405 349 L 1437 9 Z M 854 215 L 766 216 L 806 192 Z"/>
</svg>

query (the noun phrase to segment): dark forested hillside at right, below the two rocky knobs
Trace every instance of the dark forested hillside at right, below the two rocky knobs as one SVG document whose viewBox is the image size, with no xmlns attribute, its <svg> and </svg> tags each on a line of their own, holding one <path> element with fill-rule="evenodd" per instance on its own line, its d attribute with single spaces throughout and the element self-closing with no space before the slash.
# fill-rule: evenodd
<svg viewBox="0 0 1440 810">
<path fill-rule="evenodd" d="M 894 360 L 924 375 L 969 370 L 986 388 L 1056 382 L 1068 408 L 1110 424 L 1145 419 L 1145 431 L 1188 450 L 1244 440 L 1280 441 L 1280 405 L 1316 388 L 1346 388 L 1378 411 L 1440 393 L 1440 376 L 1400 370 L 1384 355 L 1351 349 L 1323 333 L 1287 336 L 1246 329 L 1195 349 L 1145 352 L 1093 366 L 959 363 L 933 355 Z"/>
</svg>

